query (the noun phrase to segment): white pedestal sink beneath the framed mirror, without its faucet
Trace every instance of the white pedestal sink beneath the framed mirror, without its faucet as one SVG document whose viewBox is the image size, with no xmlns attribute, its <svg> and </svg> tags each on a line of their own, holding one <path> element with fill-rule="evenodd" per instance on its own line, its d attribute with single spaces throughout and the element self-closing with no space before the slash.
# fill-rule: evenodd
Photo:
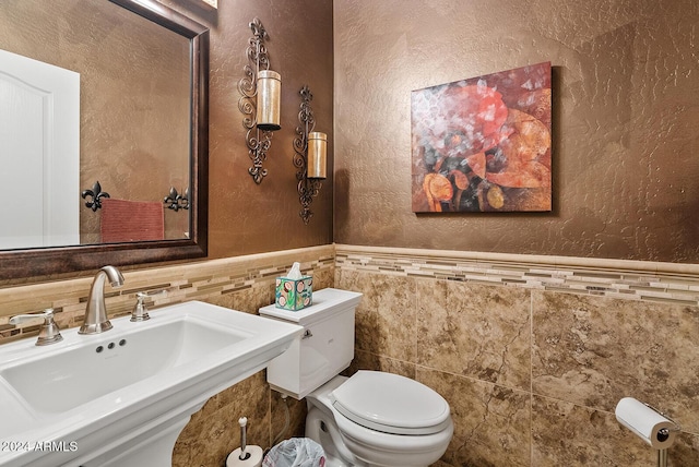
<svg viewBox="0 0 699 467">
<path fill-rule="evenodd" d="M 199 301 L 150 315 L 0 346 L 0 466 L 170 467 L 190 416 L 303 331 Z"/>
</svg>

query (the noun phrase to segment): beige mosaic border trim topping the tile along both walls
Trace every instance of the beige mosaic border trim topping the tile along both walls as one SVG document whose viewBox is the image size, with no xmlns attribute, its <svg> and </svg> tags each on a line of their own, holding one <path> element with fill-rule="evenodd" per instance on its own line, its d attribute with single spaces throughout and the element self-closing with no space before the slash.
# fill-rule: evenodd
<svg viewBox="0 0 699 467">
<path fill-rule="evenodd" d="M 111 316 L 131 312 L 135 294 L 165 290 L 151 307 L 206 300 L 272 284 L 298 261 L 304 272 L 365 271 L 390 275 L 699 306 L 699 265 L 448 250 L 327 244 L 126 271 L 126 287 L 109 290 Z M 34 335 L 10 316 L 54 308 L 61 328 L 80 325 L 92 277 L 0 288 L 0 344 Z M 38 324 L 38 323 L 37 323 Z"/>
</svg>

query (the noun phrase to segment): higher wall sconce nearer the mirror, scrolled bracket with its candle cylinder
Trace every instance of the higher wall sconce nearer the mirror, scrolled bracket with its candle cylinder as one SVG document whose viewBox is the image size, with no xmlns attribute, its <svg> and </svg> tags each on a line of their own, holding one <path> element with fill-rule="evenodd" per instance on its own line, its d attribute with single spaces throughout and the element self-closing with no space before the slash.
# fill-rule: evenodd
<svg viewBox="0 0 699 467">
<path fill-rule="evenodd" d="M 262 163 L 272 145 L 272 132 L 280 130 L 280 103 L 282 96 L 282 79 L 270 70 L 270 57 L 264 40 L 270 36 L 259 19 L 250 23 L 252 37 L 249 39 L 246 56 L 249 63 L 245 65 L 245 76 L 238 82 L 240 99 L 238 108 L 244 115 L 242 127 L 247 130 L 246 143 L 252 167 L 248 169 L 256 183 L 260 184 L 266 177 Z M 262 133 L 260 134 L 260 130 Z"/>
</svg>

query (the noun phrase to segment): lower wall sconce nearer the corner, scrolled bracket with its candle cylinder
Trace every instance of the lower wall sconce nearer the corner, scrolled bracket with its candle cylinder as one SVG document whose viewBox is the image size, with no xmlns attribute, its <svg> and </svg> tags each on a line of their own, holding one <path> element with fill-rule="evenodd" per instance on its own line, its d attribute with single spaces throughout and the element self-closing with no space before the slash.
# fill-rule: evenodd
<svg viewBox="0 0 699 467">
<path fill-rule="evenodd" d="M 325 166 L 328 164 L 328 136 L 325 133 L 313 131 L 316 118 L 310 101 L 313 95 L 308 86 L 304 86 L 299 92 L 301 96 L 298 121 L 300 127 L 296 128 L 294 139 L 294 166 L 296 179 L 298 180 L 298 200 L 301 203 L 301 211 L 298 215 L 308 224 L 313 213 L 310 211 L 310 203 L 318 195 L 322 187 L 321 180 L 325 179 Z"/>
</svg>

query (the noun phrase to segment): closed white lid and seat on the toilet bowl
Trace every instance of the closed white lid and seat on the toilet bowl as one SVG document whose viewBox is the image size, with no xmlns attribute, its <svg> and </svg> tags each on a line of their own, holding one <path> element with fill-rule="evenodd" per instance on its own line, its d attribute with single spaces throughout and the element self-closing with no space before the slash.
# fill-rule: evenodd
<svg viewBox="0 0 699 467">
<path fill-rule="evenodd" d="M 449 404 L 426 385 L 399 374 L 358 371 L 331 394 L 350 420 L 393 434 L 431 434 L 450 422 Z"/>
</svg>

